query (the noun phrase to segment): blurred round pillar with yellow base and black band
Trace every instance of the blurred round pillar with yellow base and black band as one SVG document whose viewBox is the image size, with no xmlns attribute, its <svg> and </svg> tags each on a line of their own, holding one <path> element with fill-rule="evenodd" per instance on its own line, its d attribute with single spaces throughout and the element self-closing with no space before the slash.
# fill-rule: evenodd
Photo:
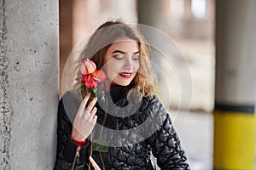
<svg viewBox="0 0 256 170">
<path fill-rule="evenodd" d="M 215 169 L 255 169 L 256 1 L 216 1 Z"/>
</svg>

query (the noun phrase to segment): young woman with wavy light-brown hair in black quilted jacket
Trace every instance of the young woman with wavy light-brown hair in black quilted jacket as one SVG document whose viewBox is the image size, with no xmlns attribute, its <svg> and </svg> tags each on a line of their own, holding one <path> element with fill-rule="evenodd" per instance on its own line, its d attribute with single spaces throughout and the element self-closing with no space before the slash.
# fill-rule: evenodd
<svg viewBox="0 0 256 170">
<path fill-rule="evenodd" d="M 62 96 L 55 169 L 155 169 L 151 152 L 160 169 L 189 169 L 171 117 L 154 94 L 149 48 L 139 32 L 108 21 L 81 54 L 108 80 L 98 85 L 96 98 Z M 93 149 L 95 139 L 107 150 Z"/>
</svg>

